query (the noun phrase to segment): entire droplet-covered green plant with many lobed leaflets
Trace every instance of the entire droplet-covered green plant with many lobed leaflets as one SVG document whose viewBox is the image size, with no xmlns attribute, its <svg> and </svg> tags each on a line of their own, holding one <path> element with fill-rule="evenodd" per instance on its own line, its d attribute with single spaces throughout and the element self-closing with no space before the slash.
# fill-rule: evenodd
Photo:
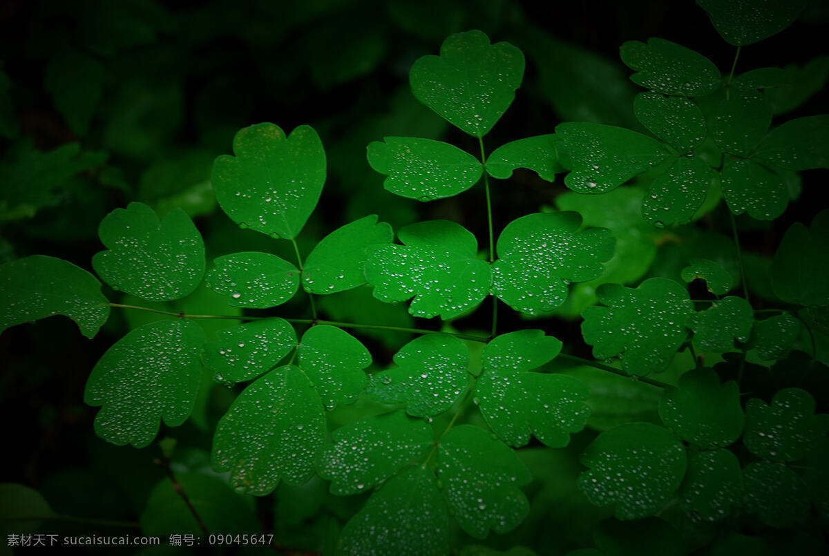
<svg viewBox="0 0 829 556">
<path fill-rule="evenodd" d="M 343 505 L 342 529 L 327 521 L 325 552 L 502 554 L 484 545 L 531 510 L 524 454 L 584 437 L 576 486 L 607 519 L 593 547 L 570 554 L 776 554 L 773 539 L 784 534 L 819 547 L 829 523 L 829 415 L 818 406 L 826 407 L 829 370 L 815 338 L 829 333 L 829 210 L 791 225 L 776 247 L 772 303 L 749 295 L 734 218 L 778 219 L 797 172 L 829 167 L 829 115 L 771 128 L 794 90 L 792 72 L 737 71 L 741 49 L 783 31 L 804 2 L 698 3 L 736 46 L 734 64 L 721 72 L 661 38 L 624 43 L 647 133 L 560 123 L 492 148 L 485 138 L 522 84 L 521 50 L 467 31 L 414 62 L 411 93 L 478 150 L 385 137 L 367 146 L 367 162 L 386 190 L 410 200 L 482 189 L 485 206 L 463 203 L 486 210 L 486 235 L 424 220 L 396 230 L 395 242 L 382 215 L 362 215 L 303 253 L 298 238 L 323 193 L 325 149 L 311 126 L 286 133 L 258 123 L 235 134 L 232 155 L 216 158 L 212 188 L 240 228 L 289 244 L 295 260 L 239 246 L 208 262 L 184 210 L 160 218 L 133 202 L 101 221 L 95 274 L 46 255 L 3 264 L 0 329 L 61 314 L 91 338 L 113 307 L 158 316 L 106 351 L 84 401 L 100 408 L 100 438 L 137 448 L 159 441 L 167 461 L 174 428 L 206 403 L 203 368 L 239 392 L 212 440 L 211 468 L 227 482 L 171 471 L 175 483 L 162 481 L 148 500 L 146 534 L 167 530 L 158 515 L 170 505 L 182 531 L 255 533 L 245 529 L 250 496 L 276 491 L 312 515 L 327 490 L 357 502 Z M 496 230 L 493 191 L 513 186 L 519 168 L 550 182 L 563 176 L 571 191 Z M 642 254 L 638 238 L 681 234 L 718 210 L 733 245 L 704 245 L 682 264 L 681 280 L 648 273 L 654 254 Z M 138 301 L 110 301 L 101 282 Z M 172 310 L 208 289 L 224 312 Z M 438 325 L 323 318 L 336 314 L 326 297 L 369 289 Z M 280 312 L 295 296 L 305 317 Z M 463 327 L 476 311 L 491 315 L 486 331 Z M 507 311 L 524 326 L 502 330 Z M 579 313 L 593 359 L 551 331 L 553 317 Z M 235 322 L 201 326 L 221 319 Z M 366 331 L 413 339 L 377 365 Z M 803 339 L 810 353 L 793 349 Z M 658 419 L 592 413 L 613 397 L 608 388 L 646 392 Z M 238 519 L 218 519 L 187 495 L 235 508 Z"/>
</svg>

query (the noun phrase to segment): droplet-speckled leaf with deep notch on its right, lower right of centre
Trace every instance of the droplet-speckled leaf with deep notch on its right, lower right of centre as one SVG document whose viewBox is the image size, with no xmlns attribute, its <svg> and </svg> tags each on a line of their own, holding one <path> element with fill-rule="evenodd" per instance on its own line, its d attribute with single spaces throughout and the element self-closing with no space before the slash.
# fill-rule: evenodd
<svg viewBox="0 0 829 556">
<path fill-rule="evenodd" d="M 567 375 L 529 372 L 561 351 L 561 342 L 541 330 L 502 334 L 483 351 L 483 374 L 475 401 L 492 432 L 515 447 L 530 442 L 531 433 L 549 447 L 565 447 L 570 433 L 584 428 L 590 390 Z"/>
</svg>

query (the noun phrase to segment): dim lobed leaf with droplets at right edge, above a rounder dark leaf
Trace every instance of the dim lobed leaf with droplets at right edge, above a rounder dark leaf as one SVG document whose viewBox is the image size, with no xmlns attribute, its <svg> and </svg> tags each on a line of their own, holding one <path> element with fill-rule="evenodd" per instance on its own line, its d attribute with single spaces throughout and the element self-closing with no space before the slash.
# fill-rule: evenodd
<svg viewBox="0 0 829 556">
<path fill-rule="evenodd" d="M 815 400 L 805 390 L 778 391 L 772 404 L 752 398 L 745 404 L 743 443 L 755 456 L 796 462 L 829 432 L 829 414 L 815 415 Z"/>
</svg>

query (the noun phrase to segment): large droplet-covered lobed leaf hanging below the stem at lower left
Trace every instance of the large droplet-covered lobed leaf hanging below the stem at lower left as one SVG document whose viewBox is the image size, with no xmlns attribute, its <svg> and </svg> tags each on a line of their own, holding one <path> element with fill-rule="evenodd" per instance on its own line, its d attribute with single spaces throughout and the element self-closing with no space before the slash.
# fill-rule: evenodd
<svg viewBox="0 0 829 556">
<path fill-rule="evenodd" d="M 180 319 L 141 326 L 110 347 L 84 390 L 86 404 L 103 406 L 95 433 L 138 448 L 153 442 L 162 418 L 170 427 L 184 423 L 201 382 L 204 341 L 195 322 Z"/>
</svg>

